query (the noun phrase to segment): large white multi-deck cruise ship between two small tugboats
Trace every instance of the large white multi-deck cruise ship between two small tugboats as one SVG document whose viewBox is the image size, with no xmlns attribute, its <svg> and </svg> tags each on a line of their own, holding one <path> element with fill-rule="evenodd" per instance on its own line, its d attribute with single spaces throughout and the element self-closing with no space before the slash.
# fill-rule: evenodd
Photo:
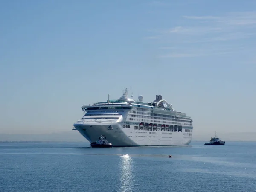
<svg viewBox="0 0 256 192">
<path fill-rule="evenodd" d="M 192 119 L 177 112 L 161 95 L 153 102 L 128 97 L 128 88 L 117 100 L 84 105 L 84 115 L 73 124 L 89 142 L 105 135 L 114 147 L 189 145 L 192 140 Z"/>
</svg>

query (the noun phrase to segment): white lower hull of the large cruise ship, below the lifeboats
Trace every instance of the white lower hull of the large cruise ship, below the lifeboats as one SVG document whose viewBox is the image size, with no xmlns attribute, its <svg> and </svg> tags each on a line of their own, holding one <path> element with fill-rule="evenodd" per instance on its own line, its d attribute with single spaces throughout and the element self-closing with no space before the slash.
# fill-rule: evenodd
<svg viewBox="0 0 256 192">
<path fill-rule="evenodd" d="M 84 123 L 77 122 L 74 127 L 89 142 L 95 142 L 100 135 L 105 135 L 109 143 L 113 146 L 163 146 L 163 145 L 189 145 L 192 134 L 172 131 L 143 131 L 131 128 L 123 128 L 122 123 L 112 123 L 113 129 L 109 128 L 109 123 Z"/>
</svg>

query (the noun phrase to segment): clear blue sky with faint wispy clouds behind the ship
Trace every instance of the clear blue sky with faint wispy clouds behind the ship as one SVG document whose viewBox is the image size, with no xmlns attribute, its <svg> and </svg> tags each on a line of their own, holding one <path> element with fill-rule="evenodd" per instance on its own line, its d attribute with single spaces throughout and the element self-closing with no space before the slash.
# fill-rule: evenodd
<svg viewBox="0 0 256 192">
<path fill-rule="evenodd" d="M 194 119 L 255 132 L 256 1 L 0 2 L 0 133 L 70 131 L 131 87 Z"/>
</svg>

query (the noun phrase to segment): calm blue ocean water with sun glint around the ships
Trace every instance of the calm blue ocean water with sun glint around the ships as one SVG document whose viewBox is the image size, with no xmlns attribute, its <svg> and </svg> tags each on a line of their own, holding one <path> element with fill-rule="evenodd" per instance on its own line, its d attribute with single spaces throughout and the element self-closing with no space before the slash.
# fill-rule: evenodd
<svg viewBox="0 0 256 192">
<path fill-rule="evenodd" d="M 122 148 L 0 143 L 0 192 L 39 191 L 255 192 L 256 143 Z"/>
</svg>

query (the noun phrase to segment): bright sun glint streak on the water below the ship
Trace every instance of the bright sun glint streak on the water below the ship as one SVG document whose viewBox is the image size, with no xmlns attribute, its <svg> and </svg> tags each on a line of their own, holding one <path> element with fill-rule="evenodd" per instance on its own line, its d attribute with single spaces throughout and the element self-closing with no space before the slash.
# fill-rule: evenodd
<svg viewBox="0 0 256 192">
<path fill-rule="evenodd" d="M 133 191 L 133 160 L 128 154 L 121 156 L 120 171 L 119 191 Z"/>
</svg>

